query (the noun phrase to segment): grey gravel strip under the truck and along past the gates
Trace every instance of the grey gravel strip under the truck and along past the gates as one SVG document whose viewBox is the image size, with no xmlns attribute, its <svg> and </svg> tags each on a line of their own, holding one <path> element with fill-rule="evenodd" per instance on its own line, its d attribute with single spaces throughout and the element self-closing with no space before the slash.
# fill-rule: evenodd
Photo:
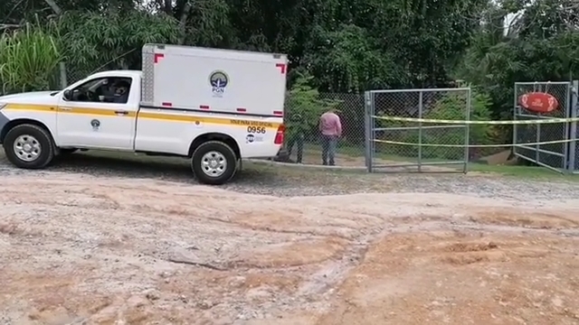
<svg viewBox="0 0 579 325">
<path fill-rule="evenodd" d="M 116 176 L 133 179 L 156 179 L 198 184 L 188 161 L 180 158 L 147 157 L 132 153 L 75 153 L 52 163 L 43 171 L 14 168 L 0 153 L 0 175 L 52 172 Z M 470 194 L 508 200 L 566 200 L 579 197 L 579 183 L 574 181 L 520 180 L 495 174 L 470 173 L 374 173 L 276 166 L 268 163 L 244 163 L 243 172 L 221 187 L 248 194 L 277 197 L 323 196 L 375 192 L 420 192 Z"/>
</svg>

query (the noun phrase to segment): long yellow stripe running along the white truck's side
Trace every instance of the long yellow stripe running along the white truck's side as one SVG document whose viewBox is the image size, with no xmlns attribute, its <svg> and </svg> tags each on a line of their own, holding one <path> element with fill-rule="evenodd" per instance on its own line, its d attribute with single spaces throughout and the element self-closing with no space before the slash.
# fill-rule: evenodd
<svg viewBox="0 0 579 325">
<path fill-rule="evenodd" d="M 62 107 L 61 107 L 62 108 Z M 24 104 L 8 104 L 4 110 L 5 111 L 33 111 L 33 112 L 58 112 L 61 114 L 78 114 L 85 116 L 115 116 L 119 118 L 123 117 L 135 117 L 135 112 L 128 112 L 125 116 L 119 116 L 115 114 L 114 110 L 103 109 L 103 108 L 81 108 L 81 107 L 68 107 L 71 110 L 58 109 L 55 106 L 46 105 L 24 105 Z M 256 120 L 246 120 L 239 118 L 227 118 L 227 117 L 208 117 L 208 116 L 195 116 L 191 113 L 179 114 L 179 113 L 163 113 L 163 112 L 144 112 L 140 111 L 138 113 L 138 118 L 155 119 L 159 121 L 172 121 L 172 122 L 188 122 L 188 123 L 204 123 L 204 124 L 214 124 L 214 125 L 232 125 L 232 126 L 261 126 L 265 128 L 277 129 L 280 123 L 263 122 Z"/>
</svg>

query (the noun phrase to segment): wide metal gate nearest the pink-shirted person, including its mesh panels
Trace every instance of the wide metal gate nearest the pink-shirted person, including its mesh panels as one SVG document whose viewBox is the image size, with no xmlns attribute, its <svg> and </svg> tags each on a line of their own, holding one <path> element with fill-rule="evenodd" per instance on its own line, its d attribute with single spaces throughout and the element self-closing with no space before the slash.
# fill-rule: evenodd
<svg viewBox="0 0 579 325">
<path fill-rule="evenodd" d="M 397 120 L 388 116 L 403 117 Z M 467 172 L 470 125 L 414 118 L 470 120 L 470 88 L 365 92 L 365 165 L 368 172 Z"/>
</svg>

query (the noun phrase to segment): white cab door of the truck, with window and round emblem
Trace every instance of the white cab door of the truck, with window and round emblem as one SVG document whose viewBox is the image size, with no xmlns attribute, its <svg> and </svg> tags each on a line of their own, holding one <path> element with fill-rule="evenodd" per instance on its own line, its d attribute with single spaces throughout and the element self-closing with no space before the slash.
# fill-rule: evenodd
<svg viewBox="0 0 579 325">
<path fill-rule="evenodd" d="M 140 71 L 107 71 L 54 95 L 59 147 L 134 151 L 140 85 Z"/>
</svg>

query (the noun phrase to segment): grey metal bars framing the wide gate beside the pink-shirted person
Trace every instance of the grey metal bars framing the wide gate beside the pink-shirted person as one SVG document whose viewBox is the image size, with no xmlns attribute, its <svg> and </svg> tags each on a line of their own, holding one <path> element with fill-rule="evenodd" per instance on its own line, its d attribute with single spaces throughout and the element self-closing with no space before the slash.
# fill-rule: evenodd
<svg viewBox="0 0 579 325">
<path fill-rule="evenodd" d="M 365 166 L 367 172 L 375 172 L 375 169 L 400 168 L 400 167 L 416 167 L 417 172 L 422 172 L 422 166 L 435 165 L 460 165 L 462 164 L 462 172 L 467 173 L 469 169 L 469 149 L 470 149 L 470 124 L 448 124 L 448 125 L 422 125 L 417 122 L 417 126 L 400 126 L 400 127 L 376 127 L 375 125 L 375 94 L 385 93 L 418 93 L 418 118 L 423 118 L 423 93 L 424 92 L 466 92 L 467 100 L 465 104 L 464 121 L 470 121 L 471 115 L 471 98 L 472 92 L 470 87 L 466 88 L 408 88 L 408 89 L 382 89 L 365 91 Z M 404 117 L 404 116 L 401 116 Z M 449 128 L 464 128 L 464 159 L 460 161 L 449 162 L 422 162 L 422 130 L 424 129 L 449 129 Z M 376 165 L 375 162 L 375 135 L 379 131 L 405 131 L 418 130 L 418 156 L 416 163 L 401 163 L 392 165 Z"/>
</svg>

